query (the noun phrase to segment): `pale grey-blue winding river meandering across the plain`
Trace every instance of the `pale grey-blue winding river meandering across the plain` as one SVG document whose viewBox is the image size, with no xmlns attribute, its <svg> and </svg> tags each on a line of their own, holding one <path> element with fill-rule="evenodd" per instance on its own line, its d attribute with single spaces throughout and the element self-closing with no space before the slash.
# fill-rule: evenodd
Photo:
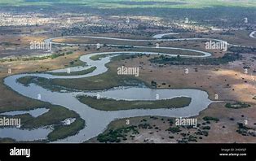
<svg viewBox="0 0 256 161">
<path fill-rule="evenodd" d="M 133 40 L 133 39 L 121 39 L 114 37 L 91 37 L 91 36 L 80 36 L 86 38 L 99 38 L 105 40 L 116 40 L 116 41 L 192 41 L 192 40 L 214 40 L 222 41 L 218 39 L 210 38 L 181 38 L 181 39 L 161 39 L 161 37 L 166 34 L 155 35 L 156 39 L 152 40 Z M 73 36 L 77 37 L 77 36 Z M 57 38 L 57 37 L 55 37 Z M 59 43 L 54 42 L 55 38 L 46 39 L 45 41 L 51 41 L 52 44 L 64 45 L 64 46 L 96 46 L 96 44 L 71 44 L 71 43 Z M 231 45 L 231 44 L 229 44 Z M 102 45 L 101 45 L 102 46 Z M 120 46 L 114 44 L 108 44 L 107 46 Z M 236 46 L 236 45 L 231 45 Z M 148 46 L 133 46 L 134 48 L 152 48 Z M 205 58 L 210 57 L 211 54 L 201 50 L 191 50 L 186 48 L 175 48 L 175 47 L 159 47 L 164 49 L 175 49 L 175 50 L 188 50 L 192 52 L 199 53 L 200 55 L 180 55 L 183 57 L 193 57 L 193 58 Z M 93 55 L 106 54 L 105 57 L 99 60 L 90 59 Z M 86 75 L 77 75 L 77 76 L 54 76 L 51 75 L 51 72 L 67 72 L 67 69 L 59 69 L 55 71 L 50 71 L 46 73 L 25 73 L 7 76 L 4 79 L 4 84 L 9 86 L 11 89 L 15 90 L 17 93 L 24 95 L 28 98 L 38 99 L 38 94 L 41 94 L 41 100 L 45 102 L 51 102 L 55 105 L 60 105 L 66 107 L 70 110 L 76 111 L 80 117 L 86 121 L 86 126 L 82 128 L 74 136 L 66 137 L 64 139 L 55 141 L 55 142 L 82 142 L 86 141 L 92 137 L 96 137 L 99 133 L 103 133 L 104 129 L 107 128 L 108 124 L 113 120 L 121 118 L 129 118 L 135 116 L 143 115 L 159 115 L 159 116 L 168 116 L 168 117 L 190 117 L 199 115 L 199 112 L 207 108 L 212 101 L 208 98 L 208 94 L 205 91 L 199 89 L 149 89 L 141 87 L 116 87 L 113 89 L 102 90 L 102 91 L 80 91 L 80 92 L 52 92 L 48 89 L 44 89 L 39 85 L 30 84 L 29 86 L 24 86 L 20 84 L 17 79 L 23 76 L 39 76 L 48 79 L 74 79 L 74 78 L 83 78 L 89 76 L 97 76 L 104 72 L 108 71 L 108 68 L 105 66 L 106 63 L 109 63 L 114 56 L 120 54 L 165 54 L 165 53 L 155 53 L 155 52 L 100 52 L 93 54 L 86 54 L 80 57 L 82 62 L 85 62 L 85 67 L 70 67 L 70 71 L 81 71 L 89 67 L 96 67 L 93 72 L 90 72 Z M 177 54 L 166 54 L 170 56 L 177 56 Z M 77 95 L 90 95 L 96 96 L 100 94 L 104 98 L 113 98 L 113 99 L 123 99 L 123 100 L 155 100 L 156 94 L 159 94 L 159 99 L 170 99 L 180 96 L 192 98 L 192 102 L 188 107 L 183 108 L 172 108 L 172 109 L 133 109 L 133 110 L 122 110 L 122 111 L 99 111 L 95 110 L 82 102 L 77 100 Z M 23 113 L 26 113 L 22 111 Z M 45 111 L 46 112 L 46 111 Z M 15 111 L 11 111 L 11 114 L 15 114 Z M 40 113 L 40 112 L 39 112 Z M 8 113 L 5 113 L 6 115 Z M 36 128 L 36 129 L 20 129 L 20 128 L 2 128 L 0 130 L 0 137 L 11 137 L 17 141 L 33 141 L 46 139 L 48 133 L 51 132 L 51 128 Z"/>
</svg>

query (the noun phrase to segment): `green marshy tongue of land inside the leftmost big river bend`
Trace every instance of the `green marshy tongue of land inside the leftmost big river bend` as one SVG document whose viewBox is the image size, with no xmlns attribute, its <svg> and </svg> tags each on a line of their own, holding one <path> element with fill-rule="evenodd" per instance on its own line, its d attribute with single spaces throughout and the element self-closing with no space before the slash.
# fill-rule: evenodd
<svg viewBox="0 0 256 161">
<path fill-rule="evenodd" d="M 24 76 L 18 79 L 18 82 L 24 85 L 35 83 L 43 88 L 52 90 L 58 90 L 60 86 L 68 89 L 100 90 L 117 86 L 138 86 L 144 83 L 135 76 L 117 75 L 117 68 L 112 67 L 109 63 L 106 66 L 109 68 L 108 71 L 98 76 L 79 79 L 46 79 L 42 77 Z"/>
</svg>

